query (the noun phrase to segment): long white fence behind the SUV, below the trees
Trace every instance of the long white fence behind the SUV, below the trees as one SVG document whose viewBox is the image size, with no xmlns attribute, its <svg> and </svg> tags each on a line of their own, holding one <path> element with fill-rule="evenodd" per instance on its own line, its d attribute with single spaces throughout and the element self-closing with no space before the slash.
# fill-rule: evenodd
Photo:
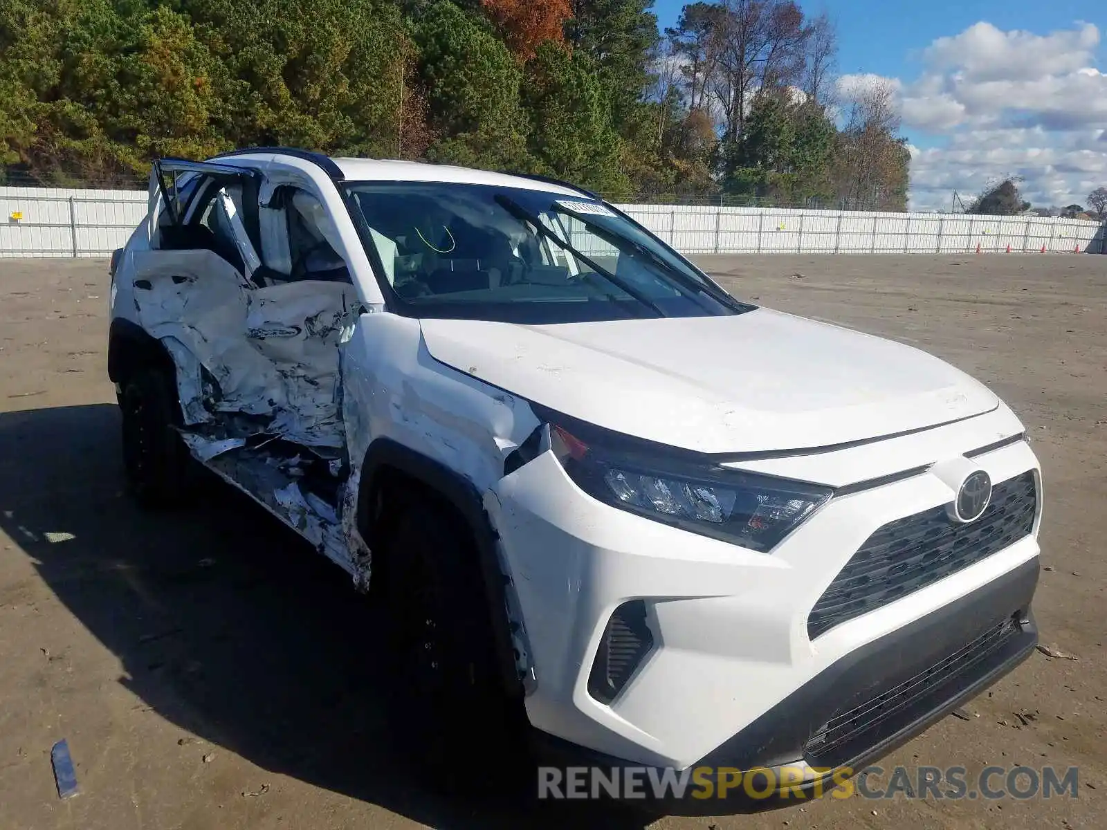
<svg viewBox="0 0 1107 830">
<path fill-rule="evenodd" d="M 1107 251 L 1105 225 L 1036 216 L 620 206 L 685 253 Z M 105 257 L 146 215 L 137 190 L 0 187 L 0 257 Z"/>
</svg>

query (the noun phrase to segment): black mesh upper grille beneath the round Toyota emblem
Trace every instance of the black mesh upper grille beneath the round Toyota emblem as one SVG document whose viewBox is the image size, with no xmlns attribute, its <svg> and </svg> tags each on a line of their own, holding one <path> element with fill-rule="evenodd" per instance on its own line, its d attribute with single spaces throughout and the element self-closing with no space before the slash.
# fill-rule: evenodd
<svg viewBox="0 0 1107 830">
<path fill-rule="evenodd" d="M 995 485 L 984 515 L 969 525 L 951 521 L 944 507 L 884 525 L 815 603 L 807 618 L 808 636 L 814 640 L 1028 536 L 1036 507 L 1034 471 L 1028 470 Z"/>
</svg>

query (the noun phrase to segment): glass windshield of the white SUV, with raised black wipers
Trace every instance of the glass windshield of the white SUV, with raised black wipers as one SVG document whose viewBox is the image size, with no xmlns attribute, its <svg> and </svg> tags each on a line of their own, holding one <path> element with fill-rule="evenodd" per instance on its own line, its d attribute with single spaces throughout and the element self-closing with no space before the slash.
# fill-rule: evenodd
<svg viewBox="0 0 1107 830">
<path fill-rule="evenodd" d="M 439 181 L 345 191 L 402 314 L 558 323 L 752 308 L 583 195 Z"/>
</svg>

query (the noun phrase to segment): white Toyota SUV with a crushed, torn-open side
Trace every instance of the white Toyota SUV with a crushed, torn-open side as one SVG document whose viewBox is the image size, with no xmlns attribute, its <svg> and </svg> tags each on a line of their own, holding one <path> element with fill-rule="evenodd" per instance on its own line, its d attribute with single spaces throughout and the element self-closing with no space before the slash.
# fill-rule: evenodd
<svg viewBox="0 0 1107 830">
<path fill-rule="evenodd" d="M 207 468 L 345 570 L 455 772 L 511 748 L 814 789 L 1035 646 L 1007 406 L 735 299 L 571 185 L 162 159 L 111 307 L 135 497 Z"/>
</svg>

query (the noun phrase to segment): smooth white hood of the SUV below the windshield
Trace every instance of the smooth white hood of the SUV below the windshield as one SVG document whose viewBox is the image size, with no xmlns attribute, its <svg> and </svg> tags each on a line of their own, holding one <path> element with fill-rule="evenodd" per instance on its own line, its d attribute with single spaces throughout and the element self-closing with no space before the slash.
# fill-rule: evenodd
<svg viewBox="0 0 1107 830">
<path fill-rule="evenodd" d="M 424 320 L 435 360 L 581 421 L 701 453 L 825 447 L 995 408 L 917 349 L 768 309 L 519 325 Z"/>
</svg>

